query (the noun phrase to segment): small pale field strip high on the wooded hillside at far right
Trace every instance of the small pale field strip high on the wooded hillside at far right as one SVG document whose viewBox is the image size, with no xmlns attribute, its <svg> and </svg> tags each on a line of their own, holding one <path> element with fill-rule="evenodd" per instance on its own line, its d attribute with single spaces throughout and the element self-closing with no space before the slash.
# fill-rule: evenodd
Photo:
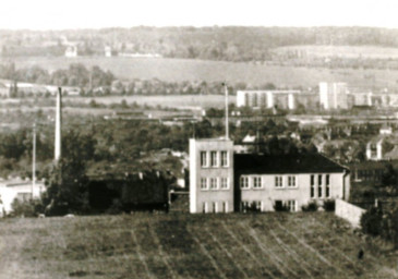
<svg viewBox="0 0 398 279">
<path fill-rule="evenodd" d="M 397 59 L 398 48 L 377 46 L 288 46 L 276 48 L 276 52 L 304 51 L 311 57 Z"/>
</svg>

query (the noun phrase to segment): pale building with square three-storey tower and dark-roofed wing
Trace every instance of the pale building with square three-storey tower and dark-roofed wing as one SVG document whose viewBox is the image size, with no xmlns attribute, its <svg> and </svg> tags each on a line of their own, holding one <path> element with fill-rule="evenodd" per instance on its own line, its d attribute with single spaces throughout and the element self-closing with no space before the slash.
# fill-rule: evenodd
<svg viewBox="0 0 398 279">
<path fill-rule="evenodd" d="M 190 213 L 299 211 L 348 199 L 348 169 L 318 154 L 234 154 L 229 140 L 190 140 Z"/>
</svg>

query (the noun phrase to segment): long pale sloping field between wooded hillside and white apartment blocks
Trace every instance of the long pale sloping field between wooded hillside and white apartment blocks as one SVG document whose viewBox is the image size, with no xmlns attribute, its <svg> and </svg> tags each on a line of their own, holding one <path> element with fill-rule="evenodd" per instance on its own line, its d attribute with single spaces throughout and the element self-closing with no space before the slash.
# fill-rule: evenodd
<svg viewBox="0 0 398 279">
<path fill-rule="evenodd" d="M 316 69 L 304 66 L 279 66 L 246 62 L 204 61 L 166 58 L 106 58 L 106 57 L 32 57 L 15 58 L 16 68 L 39 65 L 49 71 L 68 68 L 71 63 L 86 66 L 99 65 L 110 70 L 119 78 L 150 80 L 157 77 L 168 82 L 244 82 L 251 85 L 274 83 L 281 86 L 315 86 L 319 82 L 348 82 L 352 85 L 396 86 L 398 71 L 393 70 L 353 70 Z"/>
</svg>

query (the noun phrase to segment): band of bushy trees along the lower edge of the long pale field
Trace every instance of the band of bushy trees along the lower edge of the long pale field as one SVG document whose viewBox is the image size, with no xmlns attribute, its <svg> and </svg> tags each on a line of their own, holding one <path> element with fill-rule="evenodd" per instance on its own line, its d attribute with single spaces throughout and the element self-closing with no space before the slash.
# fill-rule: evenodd
<svg viewBox="0 0 398 279">
<path fill-rule="evenodd" d="M 60 69 L 52 73 L 34 65 L 31 68 L 16 69 L 14 63 L 0 64 L 0 78 L 14 81 L 10 88 L 11 97 L 31 96 L 32 93 L 25 93 L 17 89 L 19 82 L 74 86 L 80 88 L 81 96 L 106 96 L 106 95 L 219 95 L 224 94 L 221 82 L 205 81 L 182 81 L 165 82 L 158 78 L 130 81 L 120 81 L 109 70 L 104 71 L 95 65 L 87 69 L 82 63 L 72 63 L 68 69 Z M 230 84 L 230 93 L 242 89 L 275 89 L 272 83 L 265 83 L 261 86 L 252 86 L 243 82 Z M 49 93 L 43 92 L 44 96 Z"/>
</svg>

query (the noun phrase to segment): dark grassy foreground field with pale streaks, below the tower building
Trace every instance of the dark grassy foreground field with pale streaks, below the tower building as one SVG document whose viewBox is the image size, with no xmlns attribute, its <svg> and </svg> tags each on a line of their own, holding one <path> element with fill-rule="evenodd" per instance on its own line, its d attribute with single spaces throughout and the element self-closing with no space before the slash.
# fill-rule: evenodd
<svg viewBox="0 0 398 279">
<path fill-rule="evenodd" d="M 398 278 L 328 213 L 5 219 L 0 235 L 7 279 Z"/>
</svg>

